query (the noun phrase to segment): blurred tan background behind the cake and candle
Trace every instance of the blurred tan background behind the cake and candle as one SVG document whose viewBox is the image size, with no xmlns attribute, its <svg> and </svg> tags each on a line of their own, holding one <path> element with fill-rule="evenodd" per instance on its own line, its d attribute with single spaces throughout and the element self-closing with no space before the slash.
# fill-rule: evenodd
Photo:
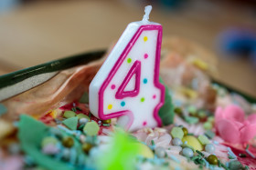
<svg viewBox="0 0 256 170">
<path fill-rule="evenodd" d="M 106 49 L 145 5 L 164 37 L 212 51 L 218 80 L 256 97 L 256 0 L 0 0 L 0 75 Z"/>
</svg>

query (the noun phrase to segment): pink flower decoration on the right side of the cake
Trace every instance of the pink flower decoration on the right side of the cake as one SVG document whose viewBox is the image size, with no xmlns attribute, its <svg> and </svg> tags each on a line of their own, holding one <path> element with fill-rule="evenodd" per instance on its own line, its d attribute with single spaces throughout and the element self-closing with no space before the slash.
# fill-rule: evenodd
<svg viewBox="0 0 256 170">
<path fill-rule="evenodd" d="M 256 114 L 245 119 L 238 105 L 229 105 L 225 109 L 218 107 L 215 111 L 215 127 L 226 142 L 243 144 L 256 135 Z"/>
</svg>

